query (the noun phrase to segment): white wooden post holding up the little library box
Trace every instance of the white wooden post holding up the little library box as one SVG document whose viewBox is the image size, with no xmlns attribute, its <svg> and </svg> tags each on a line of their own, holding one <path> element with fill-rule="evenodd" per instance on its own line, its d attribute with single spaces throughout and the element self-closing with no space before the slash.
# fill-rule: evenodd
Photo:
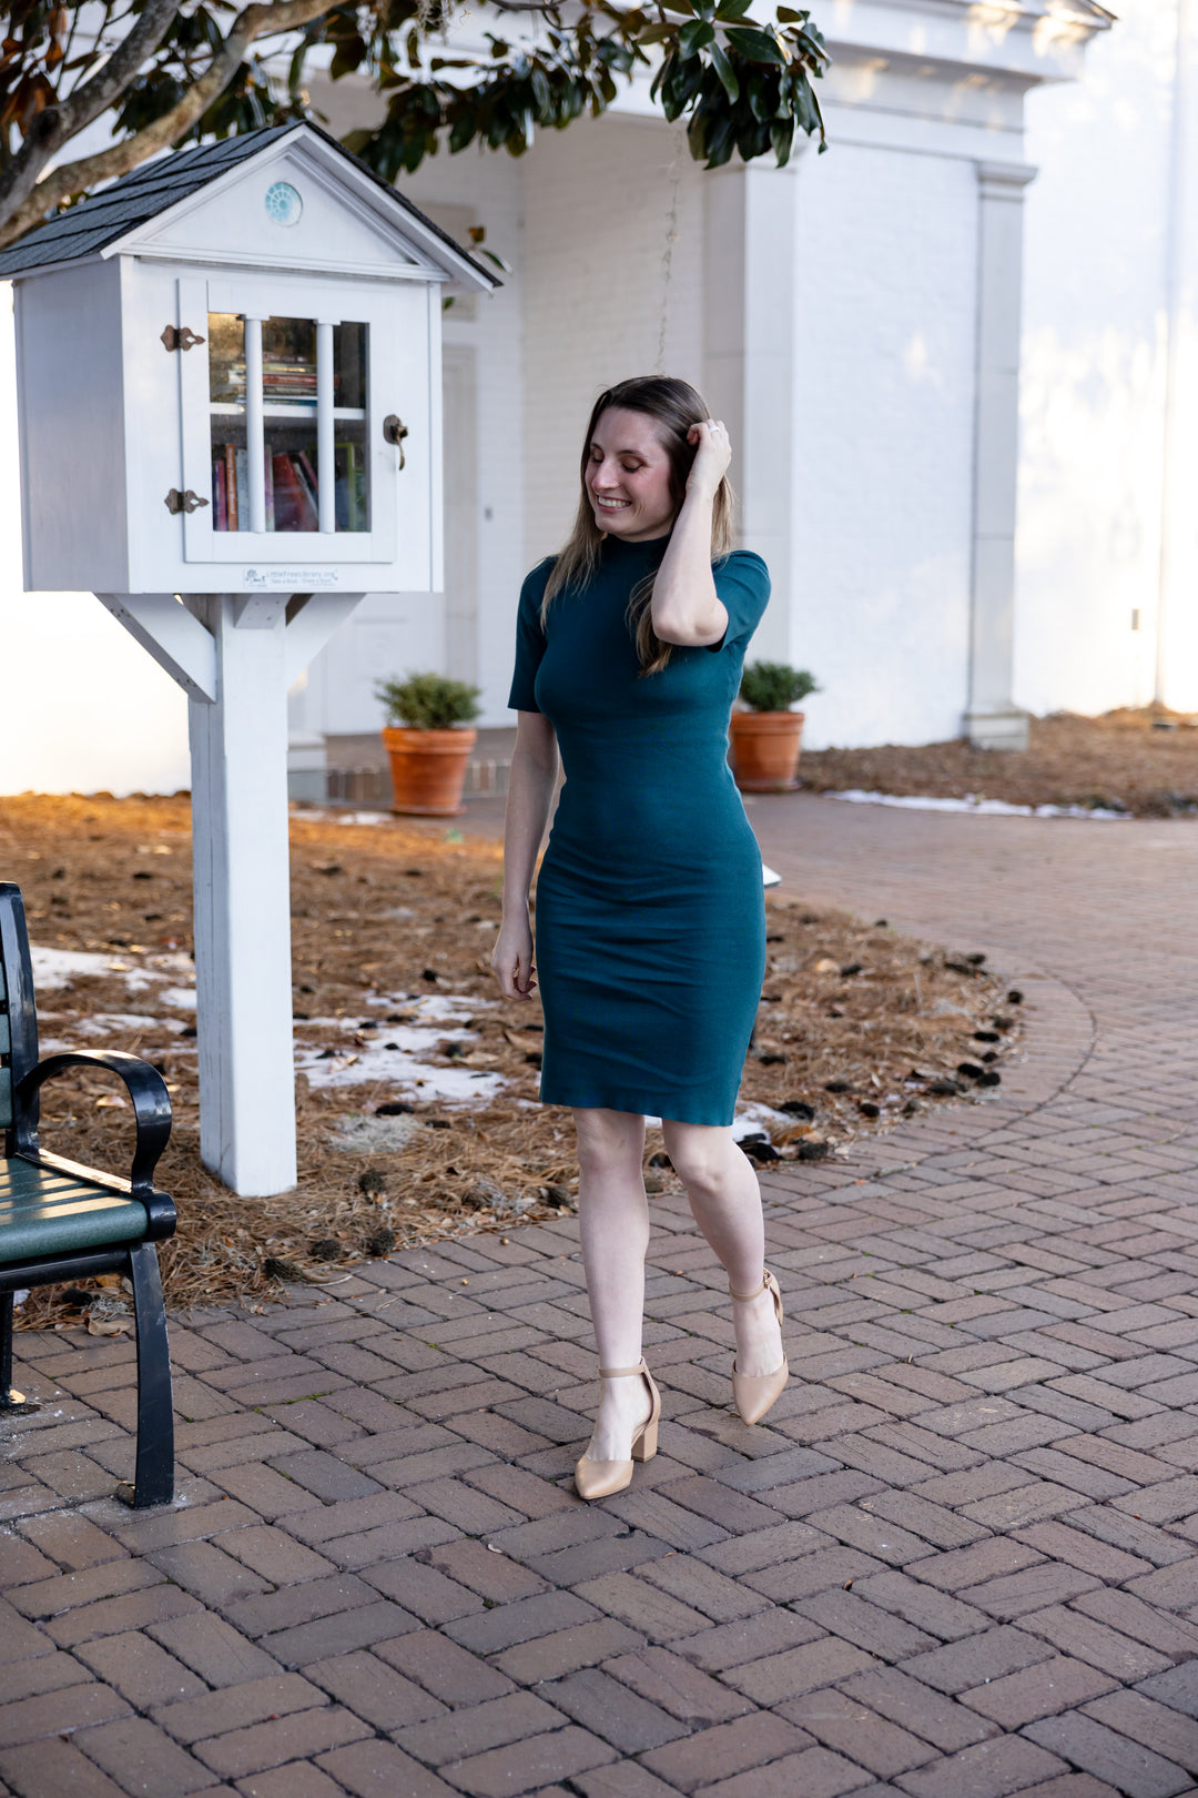
<svg viewBox="0 0 1198 1798">
<path fill-rule="evenodd" d="M 295 1187 L 287 595 L 189 599 L 216 645 L 190 699 L 199 1156 L 233 1192 Z M 241 622 L 237 622 L 241 613 Z"/>
</svg>

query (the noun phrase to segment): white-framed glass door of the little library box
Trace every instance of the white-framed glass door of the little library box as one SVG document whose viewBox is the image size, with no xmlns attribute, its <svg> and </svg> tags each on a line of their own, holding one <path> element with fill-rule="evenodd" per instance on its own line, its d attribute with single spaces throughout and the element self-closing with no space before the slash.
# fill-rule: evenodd
<svg viewBox="0 0 1198 1798">
<path fill-rule="evenodd" d="M 208 500 L 181 518 L 185 559 L 239 565 L 246 590 L 293 565 L 302 588 L 322 565 L 393 565 L 402 507 L 411 577 L 427 581 L 426 289 L 259 275 L 178 289 L 180 318 L 207 320 L 205 347 L 180 356 L 183 487 Z M 384 435 L 392 412 L 402 451 Z"/>
</svg>

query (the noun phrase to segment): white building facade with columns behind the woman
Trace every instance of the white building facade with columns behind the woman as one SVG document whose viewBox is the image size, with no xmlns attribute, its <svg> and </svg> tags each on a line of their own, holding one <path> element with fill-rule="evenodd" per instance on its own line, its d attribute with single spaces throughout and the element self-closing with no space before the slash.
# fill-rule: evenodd
<svg viewBox="0 0 1198 1798">
<path fill-rule="evenodd" d="M 404 178 L 512 275 L 444 315 L 445 593 L 368 597 L 293 694 L 296 739 L 372 732 L 374 681 L 417 667 L 512 723 L 519 583 L 566 534 L 591 401 L 654 370 L 731 426 L 742 541 L 774 577 L 753 653 L 819 678 L 812 746 L 1015 746 L 1024 708 L 1198 707 L 1178 9 L 826 0 L 824 156 L 706 173 L 634 90 L 521 160 Z M 336 135 L 377 104 L 350 81 L 314 99 Z M 22 597 L 13 485 L 0 620 L 38 690 L 0 721 L 0 791 L 185 786 L 149 660 L 93 599 Z"/>
</svg>

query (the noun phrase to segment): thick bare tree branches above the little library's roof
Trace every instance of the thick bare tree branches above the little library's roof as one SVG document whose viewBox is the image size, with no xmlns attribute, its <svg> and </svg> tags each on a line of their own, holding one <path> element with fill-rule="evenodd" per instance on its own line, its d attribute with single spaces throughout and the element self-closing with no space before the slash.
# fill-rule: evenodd
<svg viewBox="0 0 1198 1798">
<path fill-rule="evenodd" d="M 151 4 L 154 4 L 154 0 L 151 0 Z M 156 0 L 156 4 L 165 5 L 167 0 Z M 154 119 L 154 122 L 147 124 L 145 129 L 138 131 L 135 137 L 124 138 L 120 144 L 110 144 L 108 149 L 101 149 L 93 156 L 81 156 L 77 162 L 65 162 L 40 182 L 34 173 L 27 182 L 20 183 L 20 192 L 9 191 L 5 194 L 5 187 L 0 182 L 0 248 L 13 243 L 14 237 L 20 237 L 22 232 L 27 232 L 32 225 L 41 223 L 47 212 L 70 194 L 84 192 L 99 182 L 110 182 L 119 174 L 128 174 L 129 169 L 145 162 L 147 156 L 156 155 L 160 149 L 169 149 L 180 137 L 190 131 L 196 120 L 208 110 L 212 101 L 225 92 L 246 59 L 246 50 L 257 38 L 273 38 L 280 32 L 298 31 L 302 25 L 311 23 L 311 20 L 322 18 L 330 5 L 332 0 L 273 0 L 273 4 L 255 4 L 244 7 L 244 11 L 239 13 L 230 25 L 228 36 L 205 68 L 199 81 L 187 90 L 183 99 L 172 106 L 171 111 Z M 178 0 L 171 0 L 167 7 L 169 16 L 158 34 L 160 40 L 176 9 Z M 128 49 L 131 36 L 126 40 L 122 49 Z M 138 61 L 142 61 L 147 54 L 149 50 L 142 50 Z M 110 67 L 111 63 L 108 63 L 93 79 L 99 81 Z M 128 86 L 135 74 L 137 65 L 129 67 L 126 59 L 122 86 Z M 86 86 L 92 86 L 92 83 Z M 81 93 L 83 92 L 84 90 L 81 90 Z M 88 113 L 88 119 L 99 117 L 99 113 L 111 106 L 113 99 L 119 97 L 119 92 L 120 90 L 111 93 L 102 104 L 97 104 L 95 111 Z M 65 106 L 72 106 L 77 99 L 79 95 L 72 95 Z M 54 117 L 61 111 L 63 108 L 47 108 L 41 117 Z M 79 129 L 77 124 L 72 131 L 63 133 L 56 144 L 65 142 L 75 129 Z M 52 149 L 41 156 L 38 167 L 45 167 L 50 155 Z M 20 156 L 14 158 L 11 169 L 5 171 L 5 182 L 9 180 L 18 160 Z"/>
</svg>

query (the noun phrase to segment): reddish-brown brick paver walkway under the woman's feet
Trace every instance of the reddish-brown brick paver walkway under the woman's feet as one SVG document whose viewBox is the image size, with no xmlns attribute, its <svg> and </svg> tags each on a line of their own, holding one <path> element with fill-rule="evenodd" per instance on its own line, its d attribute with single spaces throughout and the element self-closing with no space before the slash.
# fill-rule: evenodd
<svg viewBox="0 0 1198 1798">
<path fill-rule="evenodd" d="M 794 1379 L 656 1203 L 661 1453 L 582 1505 L 577 1226 L 174 1327 L 181 1501 L 131 1514 L 131 1348 L 27 1336 L 0 1782 L 20 1798 L 1198 1791 L 1193 823 L 753 807 L 788 890 L 986 949 L 984 1102 L 765 1181 Z"/>
</svg>

